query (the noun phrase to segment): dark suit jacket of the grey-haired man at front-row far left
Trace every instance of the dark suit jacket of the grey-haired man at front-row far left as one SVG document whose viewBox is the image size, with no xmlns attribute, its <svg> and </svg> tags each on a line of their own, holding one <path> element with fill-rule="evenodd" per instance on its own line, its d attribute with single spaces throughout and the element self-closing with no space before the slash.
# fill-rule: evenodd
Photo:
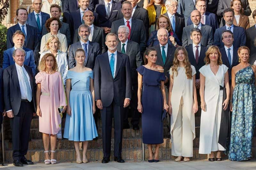
<svg viewBox="0 0 256 170">
<path fill-rule="evenodd" d="M 32 69 L 24 65 L 30 78 L 30 86 L 32 92 L 32 101 L 34 113 L 36 112 L 36 82 L 33 77 Z M 6 110 L 12 110 L 13 115 L 18 115 L 20 110 L 21 94 L 16 65 L 13 64 L 4 69 L 4 104 Z"/>
</svg>

